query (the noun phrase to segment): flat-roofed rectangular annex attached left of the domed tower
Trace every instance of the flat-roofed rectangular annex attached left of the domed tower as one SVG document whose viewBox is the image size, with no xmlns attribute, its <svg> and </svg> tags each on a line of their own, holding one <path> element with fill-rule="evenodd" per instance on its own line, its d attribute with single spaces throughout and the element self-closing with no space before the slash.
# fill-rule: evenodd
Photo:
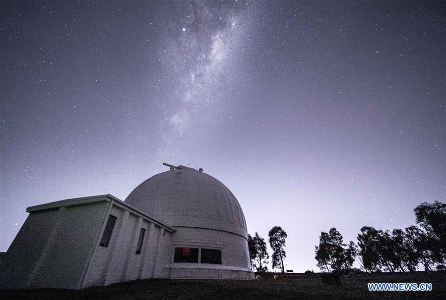
<svg viewBox="0 0 446 300">
<path fill-rule="evenodd" d="M 0 289 L 80 289 L 169 277 L 171 232 L 122 201 L 107 196 L 63 200 L 29 211 L 1 256 Z M 108 247 L 101 247 L 110 214 L 117 220 Z M 136 254 L 141 228 L 146 232 Z"/>
</svg>

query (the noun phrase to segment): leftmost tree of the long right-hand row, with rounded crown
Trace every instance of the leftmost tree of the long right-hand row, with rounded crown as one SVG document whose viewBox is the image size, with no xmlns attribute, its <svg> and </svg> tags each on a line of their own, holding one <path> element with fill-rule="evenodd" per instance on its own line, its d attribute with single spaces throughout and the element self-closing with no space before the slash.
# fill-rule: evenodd
<svg viewBox="0 0 446 300">
<path fill-rule="evenodd" d="M 343 270 L 350 269 L 354 261 L 353 253 L 353 249 L 343 244 L 342 235 L 336 228 L 331 228 L 328 233 L 320 233 L 315 258 L 321 270 L 341 273 Z"/>
</svg>

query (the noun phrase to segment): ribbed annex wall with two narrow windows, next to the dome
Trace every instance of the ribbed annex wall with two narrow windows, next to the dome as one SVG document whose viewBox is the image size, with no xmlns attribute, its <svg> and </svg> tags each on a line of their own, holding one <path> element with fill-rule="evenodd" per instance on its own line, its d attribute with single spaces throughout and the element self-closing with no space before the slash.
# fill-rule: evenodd
<svg viewBox="0 0 446 300">
<path fill-rule="evenodd" d="M 167 278 L 171 233 L 120 205 L 113 205 L 108 215 L 117 217 L 109 245 L 101 247 L 100 239 L 97 241 L 82 287 Z M 107 220 L 108 217 L 102 226 L 101 237 Z M 136 254 L 141 228 L 146 232 L 141 253 Z"/>
</svg>

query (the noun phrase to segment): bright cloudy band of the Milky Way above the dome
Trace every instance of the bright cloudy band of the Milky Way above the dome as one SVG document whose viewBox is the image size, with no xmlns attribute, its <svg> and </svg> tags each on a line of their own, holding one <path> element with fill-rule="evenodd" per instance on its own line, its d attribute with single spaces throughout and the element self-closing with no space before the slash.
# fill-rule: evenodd
<svg viewBox="0 0 446 300">
<path fill-rule="evenodd" d="M 163 99 L 161 156 L 175 149 L 172 143 L 179 138 L 190 141 L 195 130 L 205 130 L 203 126 L 233 104 L 224 89 L 239 76 L 237 58 L 246 47 L 254 4 L 217 4 L 185 1 L 174 5 L 177 18 L 161 44 L 165 49 L 161 61 L 169 74 L 165 80 L 175 83 L 172 94 Z"/>
</svg>

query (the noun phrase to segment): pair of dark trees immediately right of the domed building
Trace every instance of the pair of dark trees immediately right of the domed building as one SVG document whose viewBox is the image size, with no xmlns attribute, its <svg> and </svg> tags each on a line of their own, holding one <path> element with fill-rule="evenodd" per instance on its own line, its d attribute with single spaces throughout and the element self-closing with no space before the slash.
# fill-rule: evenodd
<svg viewBox="0 0 446 300">
<path fill-rule="evenodd" d="M 283 264 L 283 259 L 286 258 L 285 239 L 287 238 L 287 233 L 280 226 L 274 226 L 268 232 L 268 242 L 272 249 L 271 262 L 272 268 L 280 268 L 282 273 L 285 272 L 285 267 Z M 255 269 L 257 272 L 266 272 L 268 267 L 269 254 L 266 250 L 265 240 L 255 233 L 252 237 L 248 235 L 248 249 L 250 251 L 250 261 L 251 268 Z"/>
</svg>

